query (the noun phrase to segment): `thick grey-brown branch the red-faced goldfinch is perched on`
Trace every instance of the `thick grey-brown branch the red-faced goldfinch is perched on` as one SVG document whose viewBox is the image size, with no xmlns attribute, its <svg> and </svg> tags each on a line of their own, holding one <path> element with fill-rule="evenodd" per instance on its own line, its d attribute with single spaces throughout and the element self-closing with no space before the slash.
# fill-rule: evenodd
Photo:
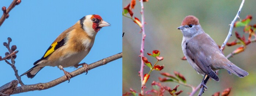
<svg viewBox="0 0 256 96">
<path fill-rule="evenodd" d="M 99 67 L 101 65 L 105 65 L 111 61 L 114 61 L 116 59 L 119 59 L 119 58 L 122 58 L 123 57 L 123 53 L 117 53 L 113 56 L 110 56 L 110 57 L 107 57 L 105 59 L 101 59 L 97 62 L 94 62 L 92 64 L 89 65 L 89 70 L 90 69 L 93 69 L 93 68 L 96 68 L 96 67 Z M 70 74 L 72 75 L 71 78 L 75 77 L 75 76 L 78 76 L 82 73 L 84 73 L 86 71 L 85 67 L 81 67 L 81 68 L 78 68 L 77 70 L 71 72 Z M 55 79 L 55 80 L 52 80 L 48 83 L 37 83 L 37 84 L 32 84 L 32 85 L 23 85 L 23 86 L 19 86 L 19 87 L 16 87 L 11 93 L 11 94 L 18 94 L 18 93 L 23 93 L 23 92 L 28 92 L 28 91 L 35 91 L 35 90 L 45 90 L 45 89 L 48 89 L 48 88 L 51 88 L 51 87 L 54 87 L 60 83 L 63 83 L 64 81 L 67 81 L 67 77 L 66 76 L 62 76 L 62 77 L 59 77 L 58 79 Z M 1 87 L 0 87 L 1 89 Z"/>
</svg>

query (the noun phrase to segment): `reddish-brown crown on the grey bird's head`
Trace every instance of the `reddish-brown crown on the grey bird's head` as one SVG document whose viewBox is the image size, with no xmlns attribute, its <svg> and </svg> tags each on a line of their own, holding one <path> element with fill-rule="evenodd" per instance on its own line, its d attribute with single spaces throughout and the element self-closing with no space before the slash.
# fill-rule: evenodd
<svg viewBox="0 0 256 96">
<path fill-rule="evenodd" d="M 185 19 L 182 21 L 181 25 L 184 26 L 184 25 L 189 25 L 189 24 L 199 25 L 199 20 L 195 16 L 192 16 L 192 15 L 186 16 Z"/>
</svg>

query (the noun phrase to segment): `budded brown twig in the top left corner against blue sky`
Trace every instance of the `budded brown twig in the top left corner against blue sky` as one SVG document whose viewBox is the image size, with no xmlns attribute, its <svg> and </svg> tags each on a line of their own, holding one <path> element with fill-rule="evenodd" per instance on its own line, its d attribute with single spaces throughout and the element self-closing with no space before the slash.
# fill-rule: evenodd
<svg viewBox="0 0 256 96">
<path fill-rule="evenodd" d="M 3 12 L 2 17 L 0 18 L 0 27 L 4 23 L 4 20 L 9 17 L 9 12 L 12 10 L 12 8 L 14 8 L 15 5 L 18 5 L 20 3 L 21 3 L 21 0 L 13 0 L 7 9 L 5 9 L 5 10 L 2 9 L 4 12 Z"/>
</svg>

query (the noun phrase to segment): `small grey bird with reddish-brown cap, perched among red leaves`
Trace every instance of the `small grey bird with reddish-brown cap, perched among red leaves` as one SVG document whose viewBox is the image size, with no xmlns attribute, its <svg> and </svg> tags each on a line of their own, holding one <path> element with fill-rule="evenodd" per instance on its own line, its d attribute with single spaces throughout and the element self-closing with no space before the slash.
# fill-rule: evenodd
<svg viewBox="0 0 256 96">
<path fill-rule="evenodd" d="M 223 55 L 215 41 L 201 28 L 195 16 L 186 16 L 177 29 L 180 29 L 183 34 L 182 51 L 197 73 L 207 75 L 216 81 L 219 81 L 215 73 L 218 69 L 226 69 L 230 75 L 232 72 L 238 77 L 249 75 Z"/>
</svg>

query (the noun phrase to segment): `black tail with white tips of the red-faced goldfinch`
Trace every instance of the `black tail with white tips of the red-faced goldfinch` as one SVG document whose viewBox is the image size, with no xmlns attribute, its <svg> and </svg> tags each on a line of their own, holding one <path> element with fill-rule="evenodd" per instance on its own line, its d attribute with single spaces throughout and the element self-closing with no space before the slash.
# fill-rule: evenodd
<svg viewBox="0 0 256 96">
<path fill-rule="evenodd" d="M 34 67 L 32 67 L 31 69 L 29 69 L 29 71 L 23 73 L 21 76 L 23 75 L 27 75 L 28 78 L 33 78 L 34 76 L 36 76 L 36 74 L 44 67 L 40 67 L 40 68 L 35 68 L 37 67 L 37 65 L 34 65 Z"/>
</svg>

